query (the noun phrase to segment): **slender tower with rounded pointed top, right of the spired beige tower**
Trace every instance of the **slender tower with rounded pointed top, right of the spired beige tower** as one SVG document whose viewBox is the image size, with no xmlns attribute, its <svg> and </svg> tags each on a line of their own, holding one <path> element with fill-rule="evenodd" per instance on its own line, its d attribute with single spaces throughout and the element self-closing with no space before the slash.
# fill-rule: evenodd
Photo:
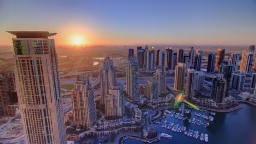
<svg viewBox="0 0 256 144">
<path fill-rule="evenodd" d="M 139 96 L 139 67 L 136 56 L 132 55 L 126 68 L 127 94 L 130 98 Z"/>
</svg>

